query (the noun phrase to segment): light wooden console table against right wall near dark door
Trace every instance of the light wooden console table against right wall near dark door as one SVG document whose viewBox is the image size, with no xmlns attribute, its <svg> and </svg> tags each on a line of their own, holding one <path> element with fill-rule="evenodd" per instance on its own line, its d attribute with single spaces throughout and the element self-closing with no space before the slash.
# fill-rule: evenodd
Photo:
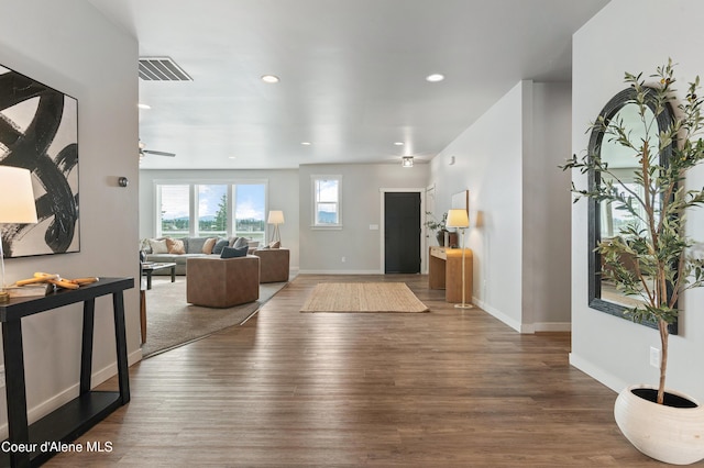
<svg viewBox="0 0 704 468">
<path fill-rule="evenodd" d="M 428 286 L 444 289 L 444 300 L 462 302 L 462 249 L 430 247 Z M 472 301 L 472 250 L 464 249 L 464 293 Z"/>
</svg>

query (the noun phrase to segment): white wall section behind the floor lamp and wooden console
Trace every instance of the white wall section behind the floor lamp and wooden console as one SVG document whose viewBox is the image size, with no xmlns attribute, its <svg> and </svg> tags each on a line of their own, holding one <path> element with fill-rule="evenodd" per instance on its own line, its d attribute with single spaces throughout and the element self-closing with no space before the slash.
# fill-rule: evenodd
<svg viewBox="0 0 704 468">
<path fill-rule="evenodd" d="M 569 86 L 519 82 L 431 164 L 438 214 L 470 190 L 474 302 L 520 332 L 569 328 Z"/>
</svg>

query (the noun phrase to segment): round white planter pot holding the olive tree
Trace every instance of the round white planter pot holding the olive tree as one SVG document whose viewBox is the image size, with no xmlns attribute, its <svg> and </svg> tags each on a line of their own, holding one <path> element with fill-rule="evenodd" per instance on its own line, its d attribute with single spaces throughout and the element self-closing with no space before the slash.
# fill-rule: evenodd
<svg viewBox="0 0 704 468">
<path fill-rule="evenodd" d="M 614 416 L 618 428 L 640 452 L 660 461 L 690 465 L 704 458 L 704 408 L 685 394 L 668 390 L 696 404 L 674 408 L 657 404 L 636 395 L 632 390 L 651 386 L 628 387 L 618 394 Z"/>
</svg>

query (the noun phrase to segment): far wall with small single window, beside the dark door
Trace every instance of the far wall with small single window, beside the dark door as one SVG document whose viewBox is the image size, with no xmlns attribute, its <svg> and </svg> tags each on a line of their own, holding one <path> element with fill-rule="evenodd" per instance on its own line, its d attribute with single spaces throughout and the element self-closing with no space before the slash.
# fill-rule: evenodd
<svg viewBox="0 0 704 468">
<path fill-rule="evenodd" d="M 312 175 L 342 176 L 341 230 L 311 230 Z M 383 272 L 380 189 L 425 189 L 428 165 L 302 165 L 299 168 L 300 272 Z M 380 230 L 370 230 L 376 224 Z M 342 261 L 342 257 L 345 261 Z"/>
</svg>

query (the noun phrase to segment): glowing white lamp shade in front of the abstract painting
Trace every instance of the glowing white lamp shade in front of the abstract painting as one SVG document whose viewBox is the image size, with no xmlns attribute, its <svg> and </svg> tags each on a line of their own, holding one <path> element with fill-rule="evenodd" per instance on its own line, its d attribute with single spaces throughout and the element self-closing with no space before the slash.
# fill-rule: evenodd
<svg viewBox="0 0 704 468">
<path fill-rule="evenodd" d="M 36 223 L 32 174 L 21 167 L 0 166 L 0 223 Z"/>
</svg>

